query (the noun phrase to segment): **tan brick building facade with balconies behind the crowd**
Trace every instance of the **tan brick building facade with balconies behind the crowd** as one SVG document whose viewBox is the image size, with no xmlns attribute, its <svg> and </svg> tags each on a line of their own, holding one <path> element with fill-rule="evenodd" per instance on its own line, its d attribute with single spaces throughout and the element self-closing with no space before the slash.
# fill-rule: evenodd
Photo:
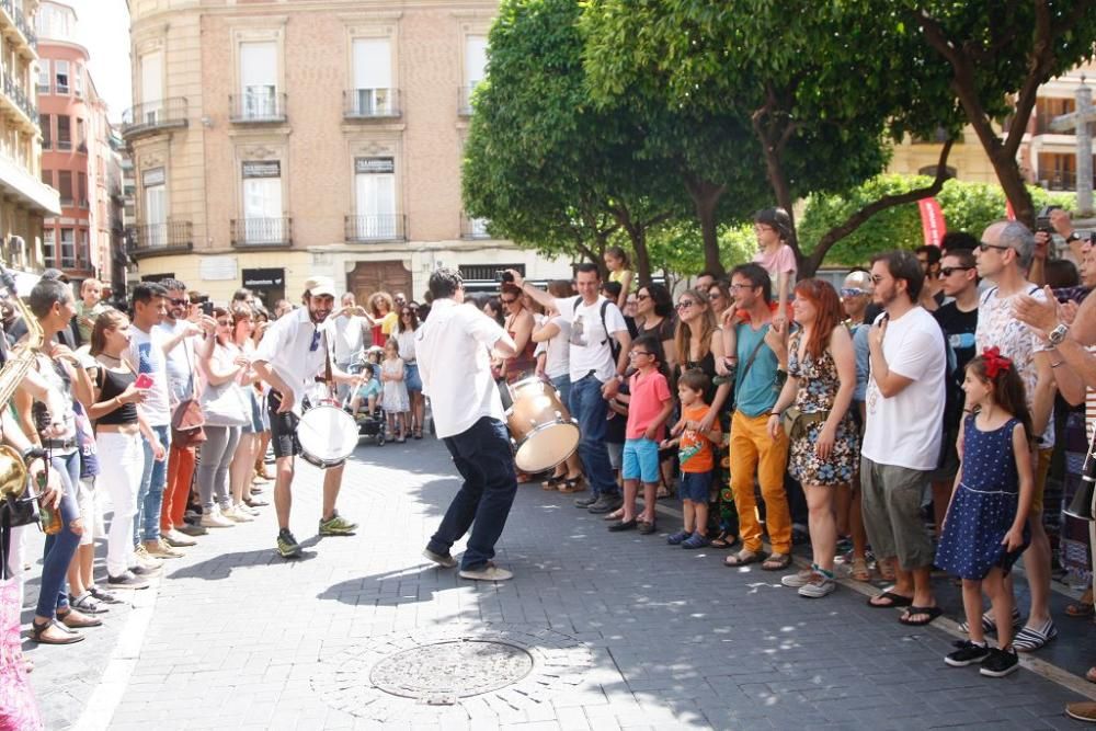
<svg viewBox="0 0 1096 731">
<path fill-rule="evenodd" d="M 493 1 L 133 0 L 132 153 L 141 278 L 215 300 L 296 299 L 327 274 L 421 295 L 438 266 L 570 276 L 461 213 L 471 89 Z M 194 255 L 197 254 L 197 255 Z"/>
</svg>

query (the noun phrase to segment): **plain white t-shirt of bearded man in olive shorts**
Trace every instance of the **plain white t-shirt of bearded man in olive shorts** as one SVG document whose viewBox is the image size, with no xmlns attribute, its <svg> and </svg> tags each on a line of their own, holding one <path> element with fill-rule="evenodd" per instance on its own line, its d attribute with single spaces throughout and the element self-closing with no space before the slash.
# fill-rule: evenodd
<svg viewBox="0 0 1096 731">
<path fill-rule="evenodd" d="M 876 319 L 879 322 L 883 316 Z M 936 318 L 922 307 L 891 320 L 883 338 L 888 368 L 912 384 L 887 398 L 874 377 L 865 399 L 860 454 L 879 465 L 932 470 L 940 457 L 947 352 Z"/>
</svg>

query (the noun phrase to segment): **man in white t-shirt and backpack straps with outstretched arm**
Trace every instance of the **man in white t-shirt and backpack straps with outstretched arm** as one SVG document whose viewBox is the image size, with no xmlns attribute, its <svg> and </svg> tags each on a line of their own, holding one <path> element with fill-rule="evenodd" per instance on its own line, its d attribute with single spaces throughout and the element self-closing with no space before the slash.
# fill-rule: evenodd
<svg viewBox="0 0 1096 731">
<path fill-rule="evenodd" d="M 574 267 L 578 297 L 557 299 L 528 283 L 514 270 L 509 270 L 514 285 L 544 307 L 550 307 L 571 323 L 569 368 L 571 396 L 568 408 L 579 422 L 579 456 L 586 470 L 592 493 L 574 501 L 591 513 L 610 513 L 621 504 L 620 490 L 613 477 L 609 453 L 605 446 L 605 416 L 608 399 L 617 395 L 628 369 L 631 335 L 620 309 L 602 297 L 601 272 L 596 264 Z M 620 345 L 613 357 L 610 339 Z"/>
</svg>

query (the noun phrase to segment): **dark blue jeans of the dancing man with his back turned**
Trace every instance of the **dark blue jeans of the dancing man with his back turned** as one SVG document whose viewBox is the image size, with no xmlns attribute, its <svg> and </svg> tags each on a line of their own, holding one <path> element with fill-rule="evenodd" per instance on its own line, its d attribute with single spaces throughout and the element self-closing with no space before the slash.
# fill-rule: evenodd
<svg viewBox="0 0 1096 731">
<path fill-rule="evenodd" d="M 448 556 L 453 544 L 470 527 L 460 568 L 478 569 L 494 558 L 494 545 L 506 526 L 517 493 L 510 433 L 498 419 L 483 416 L 468 430 L 443 441 L 465 483 L 426 547 Z"/>
</svg>

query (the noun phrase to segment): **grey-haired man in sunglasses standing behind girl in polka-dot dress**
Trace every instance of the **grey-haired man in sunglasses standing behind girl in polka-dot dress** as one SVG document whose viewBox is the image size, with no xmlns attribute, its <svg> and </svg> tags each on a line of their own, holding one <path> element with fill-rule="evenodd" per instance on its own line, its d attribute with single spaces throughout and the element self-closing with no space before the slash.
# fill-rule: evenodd
<svg viewBox="0 0 1096 731">
<path fill-rule="evenodd" d="M 1042 339 L 1027 324 L 1016 319 L 1014 307 L 1020 297 L 1046 298 L 1038 286 L 1027 281 L 1027 271 L 1035 255 L 1035 237 L 1019 221 L 1000 221 L 982 233 L 975 252 L 978 274 L 994 286 L 986 289 L 978 306 L 978 330 L 974 341 L 978 352 L 986 347 L 1001 349 L 1024 381 L 1028 408 L 1031 410 L 1031 433 L 1038 443 L 1031 458 L 1035 468 L 1035 491 L 1028 528 L 1031 545 L 1024 552 L 1024 569 L 1031 590 L 1031 610 L 1027 624 L 1016 632 L 1013 647 L 1019 652 L 1038 650 L 1058 636 L 1050 617 L 1051 553 L 1050 539 L 1042 524 L 1043 492 L 1054 450 L 1054 370 Z M 1013 574 L 1005 578 L 1005 589 L 1012 591 Z M 983 623 L 985 624 L 985 623 Z"/>
</svg>

